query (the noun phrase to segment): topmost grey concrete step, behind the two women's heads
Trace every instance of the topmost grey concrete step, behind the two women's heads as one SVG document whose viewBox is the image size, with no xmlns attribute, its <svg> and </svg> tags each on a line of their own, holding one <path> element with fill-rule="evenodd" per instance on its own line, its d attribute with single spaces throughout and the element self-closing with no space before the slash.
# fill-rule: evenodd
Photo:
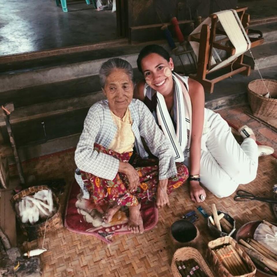
<svg viewBox="0 0 277 277">
<path fill-rule="evenodd" d="M 97 49 L 83 53 L 72 53 L 8 64 L 1 64 L 0 60 L 0 94 L 5 91 L 16 91 L 23 88 L 98 75 L 102 63 L 112 57 L 120 57 L 127 60 L 135 69 L 139 51 L 146 44 Z M 161 45 L 170 51 L 167 44 Z M 190 60 L 188 55 L 181 55 L 180 58 L 189 67 Z M 181 65 L 179 57 L 173 57 L 173 61 L 176 66 Z"/>
</svg>

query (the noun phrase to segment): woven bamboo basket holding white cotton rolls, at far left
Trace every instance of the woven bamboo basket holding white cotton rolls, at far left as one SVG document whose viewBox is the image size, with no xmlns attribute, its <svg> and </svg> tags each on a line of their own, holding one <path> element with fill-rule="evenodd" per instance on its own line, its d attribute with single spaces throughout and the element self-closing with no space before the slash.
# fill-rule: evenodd
<svg viewBox="0 0 277 277">
<path fill-rule="evenodd" d="M 27 195 L 33 195 L 35 194 L 35 192 L 38 192 L 40 190 L 50 190 L 50 188 L 48 188 L 47 186 L 34 186 L 34 187 L 27 188 L 26 190 L 22 190 L 21 192 L 15 194 L 12 197 L 11 201 L 13 203 L 13 207 L 16 201 L 20 200 L 21 198 Z M 46 229 L 46 232 L 49 232 L 49 231 L 55 231 L 63 226 L 63 220 L 61 217 L 61 205 L 59 204 L 59 199 L 54 192 L 52 192 L 52 195 L 53 195 L 54 205 L 57 207 L 57 212 L 52 217 L 47 219 L 47 223 L 46 221 L 40 222 L 35 225 L 22 223 L 19 215 L 16 213 L 14 209 L 16 213 L 16 218 L 18 219 L 18 222 L 20 224 L 20 228 L 22 229 L 23 234 L 28 237 L 29 242 L 34 239 L 37 239 L 38 237 L 43 236 L 45 229 Z"/>
</svg>

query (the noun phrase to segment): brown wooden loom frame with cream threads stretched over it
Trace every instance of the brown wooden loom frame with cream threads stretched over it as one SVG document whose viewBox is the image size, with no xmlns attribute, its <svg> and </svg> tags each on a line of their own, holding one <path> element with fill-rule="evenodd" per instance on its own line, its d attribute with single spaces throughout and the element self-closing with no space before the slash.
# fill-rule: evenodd
<svg viewBox="0 0 277 277">
<path fill-rule="evenodd" d="M 245 13 L 246 10 L 247 10 L 247 7 L 236 9 L 236 12 L 239 16 L 240 21 L 242 22 L 242 26 L 244 27 L 244 29 L 249 26 L 249 21 L 250 21 L 250 15 Z M 242 54 L 239 57 L 237 57 L 237 60 L 235 60 L 232 65 L 231 64 L 224 65 L 223 67 L 217 70 L 214 70 L 210 74 L 212 73 L 216 74 L 216 72 L 218 72 L 219 70 L 222 70 L 222 68 L 229 69 L 227 73 L 224 73 L 223 75 L 217 76 L 215 78 L 211 78 L 211 79 L 207 78 L 209 71 L 215 66 L 215 65 L 211 65 L 212 48 L 225 50 L 229 55 L 235 54 L 235 48 L 233 46 L 226 46 L 226 45 L 220 44 L 220 42 L 227 41 L 228 36 L 223 40 L 218 40 L 215 42 L 215 38 L 217 34 L 226 35 L 226 33 L 216 28 L 217 21 L 218 21 L 218 17 L 216 14 L 211 14 L 209 17 L 212 20 L 211 27 L 209 27 L 209 25 L 207 24 L 204 24 L 201 28 L 200 36 L 199 36 L 199 33 L 189 35 L 188 41 L 199 42 L 197 72 L 196 74 L 190 75 L 190 77 L 199 81 L 203 85 L 205 91 L 209 91 L 210 93 L 212 93 L 214 90 L 215 83 L 238 73 L 249 76 L 251 67 L 250 65 L 243 63 L 244 54 Z M 247 34 L 248 30 L 245 29 L 245 31 Z M 262 44 L 264 41 L 263 38 L 249 38 L 249 40 L 251 42 L 251 48 Z"/>
</svg>

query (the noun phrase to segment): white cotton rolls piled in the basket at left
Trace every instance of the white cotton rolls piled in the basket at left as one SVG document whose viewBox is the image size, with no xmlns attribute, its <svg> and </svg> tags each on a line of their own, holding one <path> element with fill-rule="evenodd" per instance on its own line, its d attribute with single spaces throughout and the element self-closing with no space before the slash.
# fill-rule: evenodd
<svg viewBox="0 0 277 277">
<path fill-rule="evenodd" d="M 57 212 L 51 190 L 40 190 L 34 195 L 23 197 L 15 204 L 15 209 L 21 221 L 31 225 L 40 219 L 50 218 Z"/>
</svg>

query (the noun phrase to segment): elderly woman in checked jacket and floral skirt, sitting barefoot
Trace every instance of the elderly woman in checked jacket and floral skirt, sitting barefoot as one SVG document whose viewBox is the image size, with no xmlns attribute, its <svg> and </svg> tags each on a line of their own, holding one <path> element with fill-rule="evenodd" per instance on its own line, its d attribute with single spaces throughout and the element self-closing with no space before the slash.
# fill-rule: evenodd
<svg viewBox="0 0 277 277">
<path fill-rule="evenodd" d="M 83 192 L 95 203 L 110 204 L 105 222 L 110 222 L 121 206 L 127 206 L 128 229 L 142 233 L 140 200 L 152 200 L 156 195 L 158 207 L 169 205 L 168 194 L 186 181 L 188 170 L 175 164 L 171 144 L 145 104 L 132 99 L 131 65 L 123 59 L 110 59 L 102 64 L 99 75 L 107 100 L 89 109 L 75 151 Z M 158 158 L 158 165 L 147 160 L 141 137 Z"/>
</svg>

